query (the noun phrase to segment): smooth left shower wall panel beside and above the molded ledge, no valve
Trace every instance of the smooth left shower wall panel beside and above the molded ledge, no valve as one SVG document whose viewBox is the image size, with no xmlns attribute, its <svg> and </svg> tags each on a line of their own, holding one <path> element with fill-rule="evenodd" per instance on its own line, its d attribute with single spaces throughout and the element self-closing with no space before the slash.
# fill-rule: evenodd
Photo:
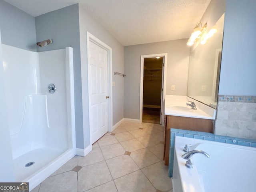
<svg viewBox="0 0 256 192">
<path fill-rule="evenodd" d="M 10 135 L 20 132 L 25 97 L 40 90 L 38 53 L 2 44 L 4 85 Z"/>
</svg>

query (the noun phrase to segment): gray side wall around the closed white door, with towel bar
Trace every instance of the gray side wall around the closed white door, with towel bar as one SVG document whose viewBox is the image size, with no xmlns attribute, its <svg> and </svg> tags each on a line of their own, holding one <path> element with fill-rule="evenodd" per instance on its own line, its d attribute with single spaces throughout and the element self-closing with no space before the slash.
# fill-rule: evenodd
<svg viewBox="0 0 256 192">
<path fill-rule="evenodd" d="M 79 22 L 80 22 L 80 50 L 81 66 L 83 77 L 83 98 L 84 105 L 84 146 L 90 144 L 89 134 L 89 116 L 88 116 L 88 79 L 87 79 L 87 40 L 86 31 L 90 32 L 96 38 L 112 48 L 112 80 L 116 82 L 113 86 L 113 125 L 124 118 L 124 79 L 114 72 L 124 72 L 124 46 L 120 44 L 105 28 L 103 28 L 92 16 L 86 13 L 86 10 L 79 5 Z"/>
</svg>

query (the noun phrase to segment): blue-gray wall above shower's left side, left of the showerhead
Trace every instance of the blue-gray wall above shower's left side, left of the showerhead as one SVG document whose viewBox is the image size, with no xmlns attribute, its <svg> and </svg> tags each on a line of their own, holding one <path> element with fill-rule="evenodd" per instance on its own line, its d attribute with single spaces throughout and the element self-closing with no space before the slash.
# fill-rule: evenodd
<svg viewBox="0 0 256 192">
<path fill-rule="evenodd" d="M 36 51 L 35 18 L 0 0 L 0 28 L 2 43 Z"/>
</svg>

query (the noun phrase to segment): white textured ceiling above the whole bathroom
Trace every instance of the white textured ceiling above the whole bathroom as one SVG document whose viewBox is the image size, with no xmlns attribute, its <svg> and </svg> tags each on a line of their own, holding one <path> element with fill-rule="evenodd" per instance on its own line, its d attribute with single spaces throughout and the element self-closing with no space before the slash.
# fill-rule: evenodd
<svg viewBox="0 0 256 192">
<path fill-rule="evenodd" d="M 32 16 L 80 3 L 122 45 L 188 38 L 210 0 L 5 0 Z"/>
</svg>

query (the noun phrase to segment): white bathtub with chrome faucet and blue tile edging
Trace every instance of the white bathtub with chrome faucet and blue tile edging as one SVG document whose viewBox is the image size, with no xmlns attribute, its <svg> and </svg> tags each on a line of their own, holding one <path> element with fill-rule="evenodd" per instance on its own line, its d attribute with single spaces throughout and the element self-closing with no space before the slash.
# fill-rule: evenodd
<svg viewBox="0 0 256 192">
<path fill-rule="evenodd" d="M 210 155 L 192 156 L 193 168 L 185 166 L 181 156 L 185 144 L 190 150 L 203 150 Z M 175 137 L 174 192 L 253 192 L 256 191 L 256 148 L 220 142 Z"/>
</svg>

